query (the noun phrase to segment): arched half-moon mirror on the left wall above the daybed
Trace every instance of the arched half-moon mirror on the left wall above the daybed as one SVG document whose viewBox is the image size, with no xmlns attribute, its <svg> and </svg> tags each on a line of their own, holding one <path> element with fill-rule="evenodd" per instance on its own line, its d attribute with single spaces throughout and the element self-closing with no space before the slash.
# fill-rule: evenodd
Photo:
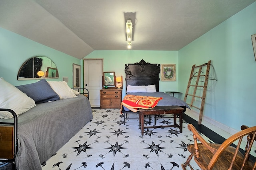
<svg viewBox="0 0 256 170">
<path fill-rule="evenodd" d="M 44 56 L 36 56 L 22 64 L 18 72 L 17 80 L 58 77 L 58 69 L 51 59 Z"/>
</svg>

